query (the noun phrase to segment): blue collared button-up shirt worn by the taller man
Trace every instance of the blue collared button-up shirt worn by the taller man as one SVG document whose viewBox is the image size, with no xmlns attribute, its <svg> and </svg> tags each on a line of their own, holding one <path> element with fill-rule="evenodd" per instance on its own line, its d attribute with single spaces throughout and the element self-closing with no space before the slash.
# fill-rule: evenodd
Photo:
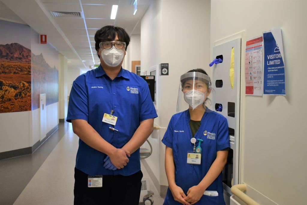
<svg viewBox="0 0 307 205">
<path fill-rule="evenodd" d="M 103 114 L 111 110 L 117 116 L 116 125 L 102 122 Z M 67 121 L 86 120 L 103 139 L 115 148 L 122 148 L 133 136 L 140 122 L 157 117 L 148 84 L 142 78 L 121 69 L 112 81 L 101 65 L 80 75 L 72 84 Z M 111 130 L 115 128 L 117 131 Z M 131 154 L 129 163 L 115 171 L 105 169 L 106 154 L 91 148 L 79 139 L 76 168 L 88 175 L 132 175 L 141 170 L 139 149 Z"/>
</svg>

